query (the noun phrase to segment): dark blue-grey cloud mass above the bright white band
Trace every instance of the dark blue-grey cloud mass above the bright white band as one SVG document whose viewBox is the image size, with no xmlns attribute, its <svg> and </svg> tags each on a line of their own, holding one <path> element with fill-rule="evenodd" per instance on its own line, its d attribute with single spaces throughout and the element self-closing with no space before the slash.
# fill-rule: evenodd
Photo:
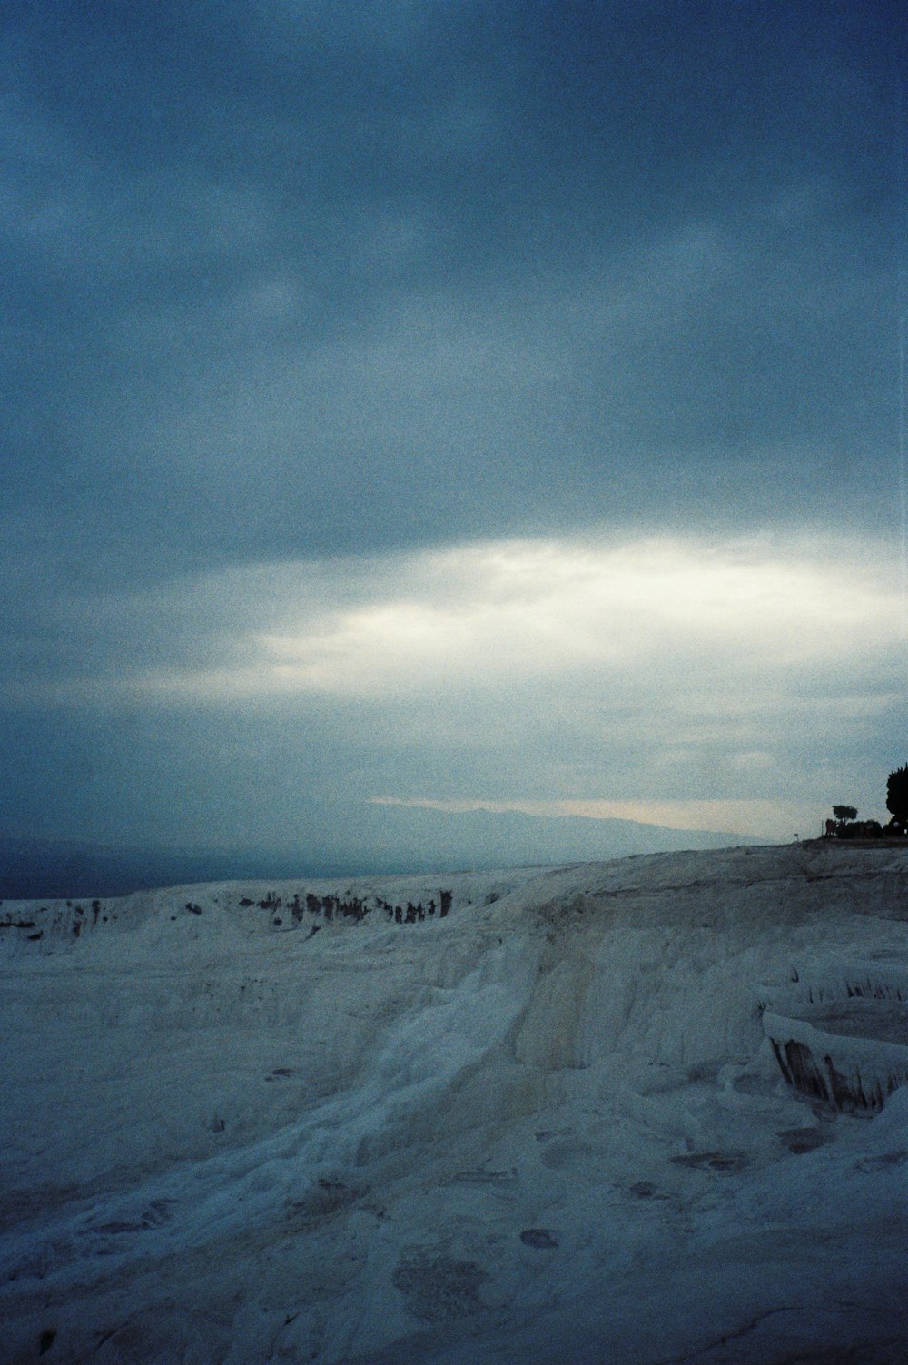
<svg viewBox="0 0 908 1365">
<path fill-rule="evenodd" d="M 754 450 L 776 504 L 792 453 L 801 494 L 810 452 L 860 482 L 894 38 L 847 4 L 22 7 L 7 505 L 116 576 L 576 524 L 616 480 L 690 515 Z"/>
</svg>

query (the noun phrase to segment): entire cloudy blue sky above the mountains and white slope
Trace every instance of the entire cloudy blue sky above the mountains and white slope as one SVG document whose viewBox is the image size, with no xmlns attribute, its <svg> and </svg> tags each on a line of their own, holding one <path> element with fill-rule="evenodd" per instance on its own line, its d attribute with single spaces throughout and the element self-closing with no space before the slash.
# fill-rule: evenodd
<svg viewBox="0 0 908 1365">
<path fill-rule="evenodd" d="M 0 833 L 885 818 L 901 8 L 5 4 Z"/>
</svg>

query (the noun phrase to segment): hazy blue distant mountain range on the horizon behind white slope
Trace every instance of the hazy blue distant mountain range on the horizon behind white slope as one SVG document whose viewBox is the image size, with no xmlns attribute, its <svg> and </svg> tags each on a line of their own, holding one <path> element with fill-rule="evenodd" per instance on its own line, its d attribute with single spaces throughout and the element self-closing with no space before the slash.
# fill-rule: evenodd
<svg viewBox="0 0 908 1365">
<path fill-rule="evenodd" d="M 366 876 L 557 865 L 761 844 L 741 834 L 636 820 L 519 812 L 448 814 L 356 803 L 320 814 L 289 848 L 156 848 L 0 835 L 0 898 L 126 895 L 154 886 L 244 878 Z"/>
</svg>

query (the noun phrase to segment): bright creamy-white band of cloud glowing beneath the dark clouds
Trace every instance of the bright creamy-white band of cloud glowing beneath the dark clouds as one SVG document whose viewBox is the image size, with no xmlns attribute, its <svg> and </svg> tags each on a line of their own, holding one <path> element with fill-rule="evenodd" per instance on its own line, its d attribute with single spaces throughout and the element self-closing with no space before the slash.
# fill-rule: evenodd
<svg viewBox="0 0 908 1365">
<path fill-rule="evenodd" d="M 233 571 L 188 590 L 190 617 L 194 595 L 199 632 L 220 624 L 218 657 L 137 670 L 128 692 L 380 699 L 590 672 L 659 692 L 690 669 L 724 708 L 791 691 L 796 673 L 877 670 L 900 633 L 893 576 L 867 545 L 513 541 Z"/>
</svg>

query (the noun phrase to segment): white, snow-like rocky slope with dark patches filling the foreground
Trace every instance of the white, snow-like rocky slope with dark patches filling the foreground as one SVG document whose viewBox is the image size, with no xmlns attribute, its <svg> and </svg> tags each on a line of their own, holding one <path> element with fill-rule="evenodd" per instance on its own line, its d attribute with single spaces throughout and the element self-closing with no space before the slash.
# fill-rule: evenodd
<svg viewBox="0 0 908 1365">
<path fill-rule="evenodd" d="M 907 850 L 0 924 L 4 1362 L 908 1358 Z"/>
</svg>

